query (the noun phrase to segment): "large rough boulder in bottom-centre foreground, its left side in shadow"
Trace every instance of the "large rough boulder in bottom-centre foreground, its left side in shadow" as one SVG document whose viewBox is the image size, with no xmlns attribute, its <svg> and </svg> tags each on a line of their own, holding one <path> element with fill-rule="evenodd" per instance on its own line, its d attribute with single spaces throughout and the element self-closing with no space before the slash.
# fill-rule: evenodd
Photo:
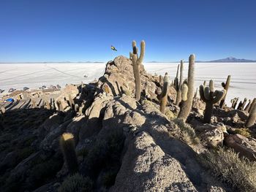
<svg viewBox="0 0 256 192">
<path fill-rule="evenodd" d="M 133 139 L 110 191 L 197 191 L 175 158 L 146 132 Z"/>
</svg>

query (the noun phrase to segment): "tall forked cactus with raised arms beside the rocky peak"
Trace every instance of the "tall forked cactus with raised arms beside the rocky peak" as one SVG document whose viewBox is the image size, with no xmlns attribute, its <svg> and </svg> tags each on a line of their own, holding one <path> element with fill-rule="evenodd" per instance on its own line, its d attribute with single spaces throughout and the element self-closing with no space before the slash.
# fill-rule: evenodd
<svg viewBox="0 0 256 192">
<path fill-rule="evenodd" d="M 140 42 L 140 56 L 138 56 L 138 47 L 136 47 L 135 41 L 132 42 L 132 50 L 133 52 L 129 53 L 129 56 L 132 58 L 132 69 L 135 77 L 135 98 L 139 101 L 141 93 L 140 66 L 145 54 L 145 42 Z"/>
</svg>

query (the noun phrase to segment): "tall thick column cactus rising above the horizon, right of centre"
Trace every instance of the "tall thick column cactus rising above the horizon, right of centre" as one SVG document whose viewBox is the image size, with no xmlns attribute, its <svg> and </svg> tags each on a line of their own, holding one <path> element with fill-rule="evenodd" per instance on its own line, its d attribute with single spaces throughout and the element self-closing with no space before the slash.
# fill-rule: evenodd
<svg viewBox="0 0 256 192">
<path fill-rule="evenodd" d="M 193 102 L 193 96 L 194 96 L 194 65 L 195 65 L 195 55 L 192 54 L 189 56 L 189 72 L 188 72 L 188 80 L 187 80 L 187 101 L 184 101 L 183 104 L 181 104 L 181 109 L 178 113 L 178 118 L 181 118 L 182 120 L 186 121 L 187 117 L 189 116 L 192 102 Z"/>
</svg>

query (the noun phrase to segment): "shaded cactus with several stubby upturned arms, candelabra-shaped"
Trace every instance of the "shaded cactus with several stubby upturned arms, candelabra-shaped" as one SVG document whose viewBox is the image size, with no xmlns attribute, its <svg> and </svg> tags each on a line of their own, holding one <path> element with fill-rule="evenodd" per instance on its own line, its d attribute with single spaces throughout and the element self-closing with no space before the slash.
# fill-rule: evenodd
<svg viewBox="0 0 256 192">
<path fill-rule="evenodd" d="M 203 122 L 211 123 L 211 115 L 214 109 L 214 104 L 219 102 L 226 91 L 214 91 L 214 81 L 210 80 L 209 86 L 200 85 L 199 87 L 200 98 L 206 102 L 206 110 L 204 112 Z"/>
</svg>

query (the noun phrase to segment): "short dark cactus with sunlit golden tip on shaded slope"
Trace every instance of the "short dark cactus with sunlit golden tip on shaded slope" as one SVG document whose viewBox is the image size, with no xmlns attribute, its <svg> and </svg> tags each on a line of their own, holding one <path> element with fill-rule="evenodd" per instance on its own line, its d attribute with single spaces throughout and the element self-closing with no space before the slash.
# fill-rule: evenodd
<svg viewBox="0 0 256 192">
<path fill-rule="evenodd" d="M 64 133 L 59 140 L 61 152 L 69 169 L 69 174 L 78 172 L 78 158 L 75 153 L 74 136 L 70 133 Z"/>
</svg>

